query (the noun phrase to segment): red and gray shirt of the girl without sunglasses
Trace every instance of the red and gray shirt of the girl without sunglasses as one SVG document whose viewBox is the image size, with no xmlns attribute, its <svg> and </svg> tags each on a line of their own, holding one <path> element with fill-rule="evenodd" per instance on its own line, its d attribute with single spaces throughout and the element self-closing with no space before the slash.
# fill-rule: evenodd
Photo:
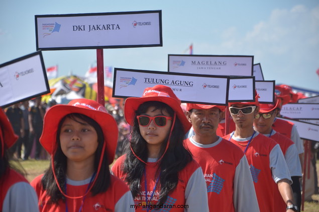
<svg viewBox="0 0 319 212">
<path fill-rule="evenodd" d="M 83 206 L 81 211 L 134 211 L 134 207 L 132 208 L 130 206 L 134 205 L 131 191 L 122 180 L 113 175 L 111 175 L 111 183 L 107 191 L 96 194 L 95 196 L 91 196 L 91 194 L 88 193 L 84 198 L 66 198 L 66 202 L 60 199 L 58 204 L 50 203 L 50 197 L 47 195 L 46 190 L 43 190 L 41 185 L 42 176 L 43 175 L 36 177 L 31 182 L 31 185 L 38 194 L 39 209 L 42 212 L 64 212 L 66 211 L 66 207 L 68 211 L 79 211 L 82 202 Z M 66 194 L 68 196 L 85 194 L 90 180 L 90 178 L 82 181 L 67 179 Z"/>
</svg>

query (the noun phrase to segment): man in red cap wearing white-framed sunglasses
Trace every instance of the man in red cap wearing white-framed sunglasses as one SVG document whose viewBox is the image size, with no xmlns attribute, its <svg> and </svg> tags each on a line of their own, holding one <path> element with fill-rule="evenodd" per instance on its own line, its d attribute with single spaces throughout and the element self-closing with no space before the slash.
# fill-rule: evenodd
<svg viewBox="0 0 319 212">
<path fill-rule="evenodd" d="M 297 211 L 290 187 L 290 173 L 279 145 L 254 130 L 255 116 L 259 112 L 258 98 L 256 92 L 255 102 L 229 103 L 236 129 L 224 138 L 240 147 L 247 157 L 260 211 L 274 211 L 273 181 L 287 204 L 287 211 Z"/>
</svg>

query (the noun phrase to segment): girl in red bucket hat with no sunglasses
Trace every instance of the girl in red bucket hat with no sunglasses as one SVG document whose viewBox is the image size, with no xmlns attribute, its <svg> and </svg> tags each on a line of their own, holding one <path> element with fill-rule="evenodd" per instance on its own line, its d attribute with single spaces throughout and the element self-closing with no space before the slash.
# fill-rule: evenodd
<svg viewBox="0 0 319 212">
<path fill-rule="evenodd" d="M 129 188 L 109 170 L 117 139 L 116 121 L 93 100 L 51 107 L 40 138 L 51 165 L 31 182 L 40 211 L 134 211 Z"/>
</svg>

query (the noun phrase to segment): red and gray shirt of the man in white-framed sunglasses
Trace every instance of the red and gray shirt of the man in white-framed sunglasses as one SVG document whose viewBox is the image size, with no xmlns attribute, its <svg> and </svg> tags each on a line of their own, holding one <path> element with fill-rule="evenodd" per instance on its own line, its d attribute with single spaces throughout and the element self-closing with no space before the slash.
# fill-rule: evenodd
<svg viewBox="0 0 319 212">
<path fill-rule="evenodd" d="M 224 138 L 245 151 L 251 137 L 238 138 L 231 134 Z M 279 145 L 271 138 L 256 132 L 245 153 L 253 177 L 260 211 L 274 211 L 274 186 L 282 179 L 291 182 L 290 173 Z"/>
</svg>

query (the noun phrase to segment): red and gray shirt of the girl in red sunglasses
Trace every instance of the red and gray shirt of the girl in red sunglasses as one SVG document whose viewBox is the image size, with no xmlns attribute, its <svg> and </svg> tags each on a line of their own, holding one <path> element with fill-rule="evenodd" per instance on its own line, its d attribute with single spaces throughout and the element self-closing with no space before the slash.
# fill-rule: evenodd
<svg viewBox="0 0 319 212">
<path fill-rule="evenodd" d="M 156 181 L 158 179 L 157 159 L 149 159 L 146 169 L 146 187 L 145 177 L 141 178 L 140 194 L 134 198 L 136 211 L 147 210 L 146 205 L 156 205 L 159 200 L 159 187 L 157 186 L 153 194 Z M 125 155 L 118 158 L 112 167 L 114 175 L 120 179 L 125 179 L 125 173 L 122 171 L 122 165 L 125 161 Z M 196 161 L 191 161 L 178 173 L 178 183 L 173 191 L 168 194 L 163 208 L 158 211 L 208 211 L 206 183 L 200 166 Z M 148 207 L 152 211 L 151 207 Z M 154 210 L 157 211 L 157 210 Z"/>
</svg>

